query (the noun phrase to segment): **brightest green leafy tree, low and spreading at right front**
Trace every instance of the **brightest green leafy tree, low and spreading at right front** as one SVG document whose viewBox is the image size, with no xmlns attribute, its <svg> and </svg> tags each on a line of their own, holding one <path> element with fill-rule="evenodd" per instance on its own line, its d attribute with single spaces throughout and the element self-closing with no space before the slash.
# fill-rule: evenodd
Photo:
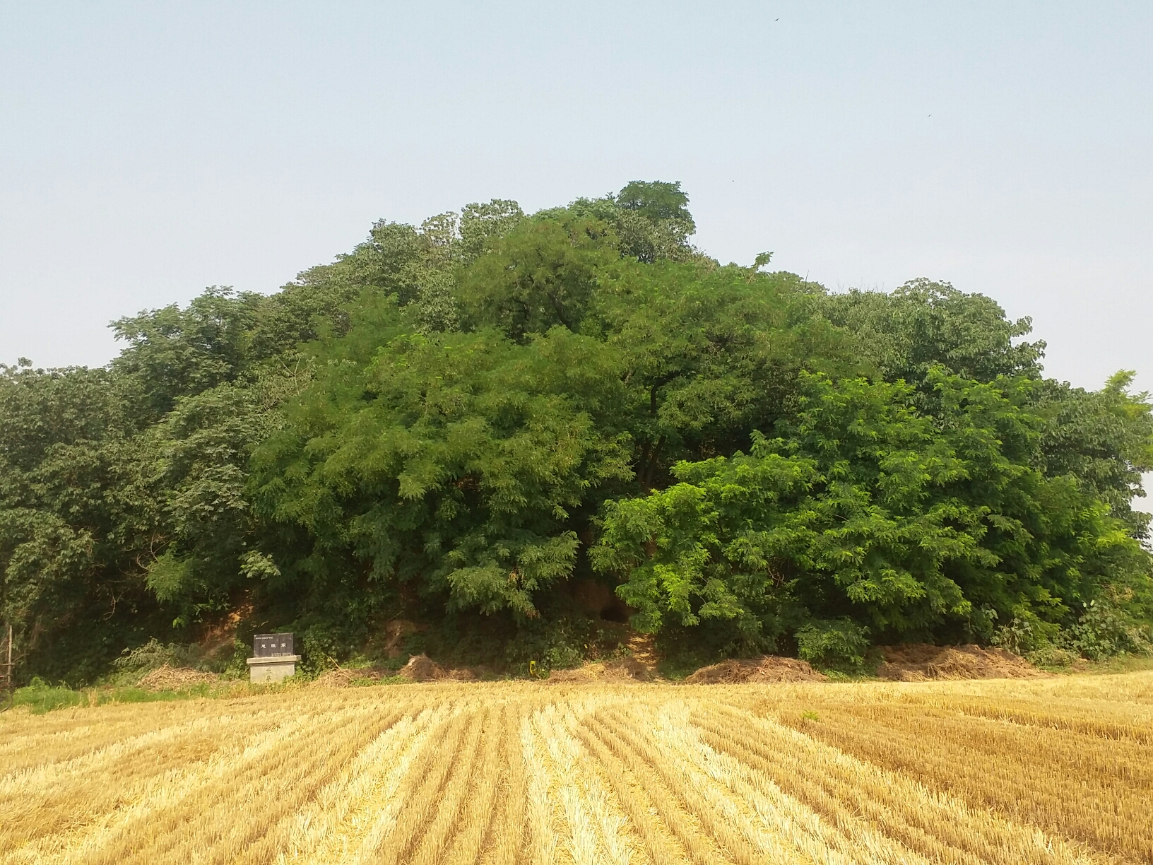
<svg viewBox="0 0 1153 865">
<path fill-rule="evenodd" d="M 1108 506 L 1031 465 L 1028 379 L 927 379 L 939 416 L 909 385 L 806 375 L 781 437 L 608 503 L 594 561 L 626 578 L 636 625 L 728 622 L 749 646 L 838 617 L 886 639 L 988 639 L 998 618 L 1055 633 L 1115 580 L 1147 591 Z"/>
</svg>

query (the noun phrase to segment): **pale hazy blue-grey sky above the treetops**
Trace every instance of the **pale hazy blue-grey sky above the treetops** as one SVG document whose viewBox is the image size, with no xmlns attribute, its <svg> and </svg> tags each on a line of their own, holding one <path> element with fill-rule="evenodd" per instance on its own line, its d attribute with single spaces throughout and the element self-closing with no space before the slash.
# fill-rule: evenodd
<svg viewBox="0 0 1153 865">
<path fill-rule="evenodd" d="M 372 220 L 680 180 L 696 242 L 927 276 L 1153 389 L 1153 3 L 0 0 L 0 361 Z"/>
</svg>

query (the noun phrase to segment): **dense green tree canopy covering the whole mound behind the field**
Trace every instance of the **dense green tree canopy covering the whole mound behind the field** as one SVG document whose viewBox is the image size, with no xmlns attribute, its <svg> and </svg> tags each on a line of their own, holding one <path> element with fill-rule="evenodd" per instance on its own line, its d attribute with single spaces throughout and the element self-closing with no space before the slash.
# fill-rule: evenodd
<svg viewBox="0 0 1153 865">
<path fill-rule="evenodd" d="M 119 319 L 106 369 L 0 368 L 21 675 L 228 615 L 325 655 L 404 617 L 560 662 L 610 616 L 588 585 L 699 654 L 1144 645 L 1131 374 L 1046 379 L 1028 319 L 948 284 L 722 266 L 687 204 L 380 221 L 276 294 Z"/>
</svg>

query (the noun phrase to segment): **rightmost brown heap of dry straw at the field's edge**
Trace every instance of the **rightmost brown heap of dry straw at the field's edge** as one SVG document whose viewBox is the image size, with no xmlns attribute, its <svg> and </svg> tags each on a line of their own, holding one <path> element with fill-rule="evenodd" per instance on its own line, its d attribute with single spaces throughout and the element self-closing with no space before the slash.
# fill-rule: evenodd
<svg viewBox="0 0 1153 865">
<path fill-rule="evenodd" d="M 1052 674 L 1037 669 L 1023 657 L 998 648 L 980 646 L 882 646 L 884 662 L 876 675 L 894 682 L 932 679 L 1031 679 Z"/>
</svg>

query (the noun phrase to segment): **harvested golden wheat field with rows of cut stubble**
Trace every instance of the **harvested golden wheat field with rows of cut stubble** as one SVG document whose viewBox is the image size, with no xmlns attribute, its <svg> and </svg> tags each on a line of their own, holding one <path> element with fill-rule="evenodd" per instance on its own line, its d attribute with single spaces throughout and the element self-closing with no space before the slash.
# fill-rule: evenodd
<svg viewBox="0 0 1153 865">
<path fill-rule="evenodd" d="M 1153 672 L 0 716 L 2 863 L 1151 863 Z"/>
</svg>

